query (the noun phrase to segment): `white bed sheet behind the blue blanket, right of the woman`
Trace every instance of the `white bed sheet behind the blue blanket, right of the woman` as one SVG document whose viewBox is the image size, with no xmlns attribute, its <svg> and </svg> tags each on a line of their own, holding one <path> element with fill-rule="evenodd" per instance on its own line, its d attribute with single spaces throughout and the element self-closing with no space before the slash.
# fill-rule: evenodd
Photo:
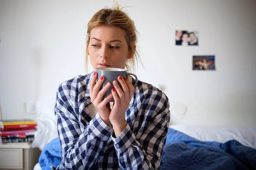
<svg viewBox="0 0 256 170">
<path fill-rule="evenodd" d="M 256 126 L 170 125 L 169 127 L 201 141 L 224 143 L 235 139 L 245 146 L 256 149 Z"/>
</svg>

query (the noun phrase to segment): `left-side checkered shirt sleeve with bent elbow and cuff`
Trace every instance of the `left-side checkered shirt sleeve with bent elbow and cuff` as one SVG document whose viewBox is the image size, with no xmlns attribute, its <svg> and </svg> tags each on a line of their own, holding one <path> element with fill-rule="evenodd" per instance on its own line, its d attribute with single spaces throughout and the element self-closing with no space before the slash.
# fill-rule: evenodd
<svg viewBox="0 0 256 170">
<path fill-rule="evenodd" d="M 112 129 L 96 113 L 81 132 L 70 96 L 61 86 L 56 97 L 55 117 L 62 153 L 57 169 L 90 169 L 105 152 Z"/>
</svg>

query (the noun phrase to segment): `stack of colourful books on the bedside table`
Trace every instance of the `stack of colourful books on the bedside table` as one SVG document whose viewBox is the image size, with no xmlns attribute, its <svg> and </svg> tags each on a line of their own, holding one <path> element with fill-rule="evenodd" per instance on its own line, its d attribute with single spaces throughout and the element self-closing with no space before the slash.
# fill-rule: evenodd
<svg viewBox="0 0 256 170">
<path fill-rule="evenodd" d="M 3 120 L 1 143 L 33 142 L 37 124 L 31 119 Z"/>
</svg>

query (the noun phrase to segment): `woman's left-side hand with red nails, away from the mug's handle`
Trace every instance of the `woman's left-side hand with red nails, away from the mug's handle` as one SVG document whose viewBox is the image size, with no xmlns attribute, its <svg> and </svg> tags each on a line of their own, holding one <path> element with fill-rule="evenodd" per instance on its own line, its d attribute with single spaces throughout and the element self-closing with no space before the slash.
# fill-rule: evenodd
<svg viewBox="0 0 256 170">
<path fill-rule="evenodd" d="M 108 82 L 107 85 L 105 85 L 104 88 L 102 88 L 101 91 L 99 91 L 100 86 L 104 82 L 104 77 L 100 77 L 99 80 L 96 83 L 98 74 L 94 72 L 93 77 L 90 81 L 90 98 L 93 105 L 96 107 L 99 116 L 103 120 L 103 122 L 108 125 L 109 123 L 109 114 L 110 114 L 110 105 L 109 100 L 113 97 L 112 94 L 108 95 L 104 100 L 102 100 L 103 95 L 108 91 L 108 89 L 111 87 L 111 83 Z M 108 105 L 107 105 L 108 104 Z"/>
</svg>

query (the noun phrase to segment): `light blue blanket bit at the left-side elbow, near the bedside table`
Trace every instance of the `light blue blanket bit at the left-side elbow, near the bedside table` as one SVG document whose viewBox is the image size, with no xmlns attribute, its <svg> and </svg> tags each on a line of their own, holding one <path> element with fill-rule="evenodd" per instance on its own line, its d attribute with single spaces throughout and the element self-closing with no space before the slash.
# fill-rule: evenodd
<svg viewBox="0 0 256 170">
<path fill-rule="evenodd" d="M 58 138 L 45 145 L 38 161 L 42 170 L 51 170 L 51 167 L 58 167 L 58 164 L 61 163 L 61 143 Z"/>
</svg>

